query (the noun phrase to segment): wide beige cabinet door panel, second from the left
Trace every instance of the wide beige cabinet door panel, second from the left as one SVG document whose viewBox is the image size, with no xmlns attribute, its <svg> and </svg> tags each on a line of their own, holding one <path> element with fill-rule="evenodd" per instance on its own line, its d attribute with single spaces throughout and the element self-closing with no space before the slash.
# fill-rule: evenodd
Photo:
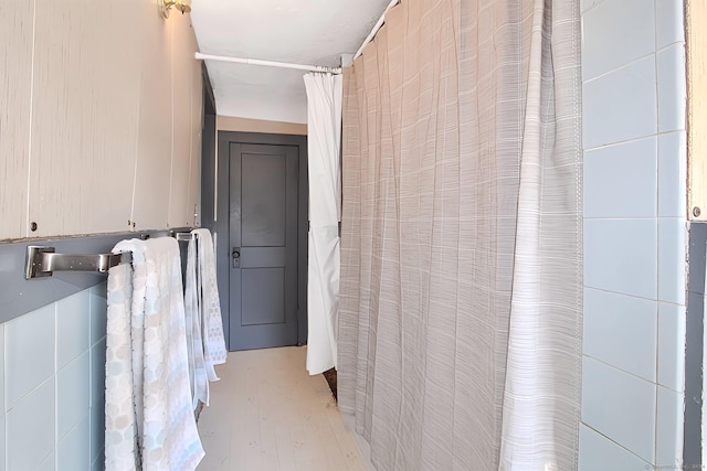
<svg viewBox="0 0 707 471">
<path fill-rule="evenodd" d="M 135 172 L 139 0 L 36 0 L 32 236 L 125 231 Z M 131 31 L 131 34 L 126 34 Z"/>
</svg>

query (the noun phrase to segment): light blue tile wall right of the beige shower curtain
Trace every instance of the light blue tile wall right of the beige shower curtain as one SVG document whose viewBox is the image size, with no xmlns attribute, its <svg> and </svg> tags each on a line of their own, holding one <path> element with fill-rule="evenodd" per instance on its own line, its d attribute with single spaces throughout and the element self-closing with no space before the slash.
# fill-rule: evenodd
<svg viewBox="0 0 707 471">
<path fill-rule="evenodd" d="M 584 372 L 580 469 L 682 458 L 683 0 L 582 0 Z"/>
</svg>

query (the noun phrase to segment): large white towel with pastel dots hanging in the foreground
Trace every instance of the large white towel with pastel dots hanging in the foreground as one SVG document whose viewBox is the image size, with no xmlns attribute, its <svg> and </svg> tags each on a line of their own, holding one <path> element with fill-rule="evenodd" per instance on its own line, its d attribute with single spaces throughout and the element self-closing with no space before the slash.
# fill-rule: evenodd
<svg viewBox="0 0 707 471">
<path fill-rule="evenodd" d="M 126 250 L 131 283 L 129 266 L 108 274 L 106 471 L 194 470 L 204 452 L 189 386 L 179 247 L 163 237 L 114 248 Z"/>
</svg>

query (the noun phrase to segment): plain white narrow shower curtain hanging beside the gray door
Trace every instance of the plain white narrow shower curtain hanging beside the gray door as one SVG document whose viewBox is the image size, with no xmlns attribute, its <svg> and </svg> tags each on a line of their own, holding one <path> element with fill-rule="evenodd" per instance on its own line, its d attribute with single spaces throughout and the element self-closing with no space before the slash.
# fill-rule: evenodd
<svg viewBox="0 0 707 471">
<path fill-rule="evenodd" d="M 315 375 L 337 364 L 342 78 L 321 73 L 304 78 L 309 167 L 307 371 Z"/>
</svg>

